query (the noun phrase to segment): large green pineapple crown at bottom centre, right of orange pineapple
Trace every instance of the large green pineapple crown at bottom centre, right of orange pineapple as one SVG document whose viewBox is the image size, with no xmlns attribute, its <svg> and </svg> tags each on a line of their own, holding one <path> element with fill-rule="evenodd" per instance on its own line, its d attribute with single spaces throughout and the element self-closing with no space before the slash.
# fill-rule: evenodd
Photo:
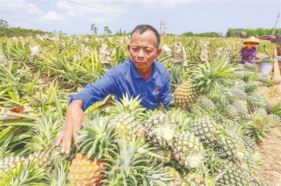
<svg viewBox="0 0 281 186">
<path fill-rule="evenodd" d="M 104 171 L 103 183 L 109 185 L 166 185 L 165 181 L 157 175 L 162 168 L 162 164 L 156 165 L 150 156 L 159 157 L 149 148 L 149 144 L 141 144 L 140 140 L 128 141 L 122 137 L 117 141 L 117 145 L 108 149 L 112 155 L 105 155 L 105 167 L 109 171 Z M 157 184 L 158 185 L 158 184 Z"/>
</svg>

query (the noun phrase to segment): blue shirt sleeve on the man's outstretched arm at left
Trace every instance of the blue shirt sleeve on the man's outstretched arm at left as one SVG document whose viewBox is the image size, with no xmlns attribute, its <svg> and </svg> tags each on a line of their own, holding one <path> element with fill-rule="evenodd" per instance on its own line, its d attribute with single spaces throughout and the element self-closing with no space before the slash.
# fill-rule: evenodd
<svg viewBox="0 0 281 186">
<path fill-rule="evenodd" d="M 118 74 L 113 67 L 97 82 L 86 85 L 79 93 L 69 97 L 68 105 L 75 99 L 81 99 L 84 102 L 82 110 L 86 111 L 93 103 L 104 99 L 109 94 L 114 94 L 117 83 Z"/>
</svg>

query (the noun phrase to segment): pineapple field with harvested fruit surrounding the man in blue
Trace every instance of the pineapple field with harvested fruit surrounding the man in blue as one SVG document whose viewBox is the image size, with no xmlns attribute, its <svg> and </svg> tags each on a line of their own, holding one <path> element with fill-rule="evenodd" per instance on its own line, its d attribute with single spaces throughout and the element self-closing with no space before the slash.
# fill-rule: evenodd
<svg viewBox="0 0 281 186">
<path fill-rule="evenodd" d="M 226 50 L 242 39 L 163 35 L 176 107 L 109 95 L 86 110 L 68 156 L 54 143 L 69 96 L 129 60 L 130 37 L 0 41 L 0 185 L 281 185 L 281 79 Z"/>
</svg>

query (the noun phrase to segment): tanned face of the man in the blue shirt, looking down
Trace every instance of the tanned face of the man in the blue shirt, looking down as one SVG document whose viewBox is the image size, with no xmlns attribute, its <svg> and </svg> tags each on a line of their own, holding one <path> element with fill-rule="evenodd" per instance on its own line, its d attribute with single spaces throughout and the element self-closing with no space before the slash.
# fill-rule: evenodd
<svg viewBox="0 0 281 186">
<path fill-rule="evenodd" d="M 136 69 L 149 69 L 151 64 L 160 55 L 161 49 L 157 49 L 157 39 L 154 32 L 148 30 L 142 35 L 133 33 L 131 45 L 128 45 L 131 59 Z"/>
</svg>

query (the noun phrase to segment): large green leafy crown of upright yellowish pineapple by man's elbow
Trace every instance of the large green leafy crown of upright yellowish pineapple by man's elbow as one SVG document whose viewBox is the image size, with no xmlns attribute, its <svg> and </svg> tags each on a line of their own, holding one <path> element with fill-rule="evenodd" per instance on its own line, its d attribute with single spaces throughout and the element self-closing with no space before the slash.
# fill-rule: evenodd
<svg viewBox="0 0 281 186">
<path fill-rule="evenodd" d="M 200 92 L 208 92 L 216 83 L 223 82 L 226 77 L 232 76 L 232 70 L 232 64 L 227 62 L 227 56 L 211 63 L 206 61 L 195 70 L 194 85 L 199 88 Z"/>
</svg>

